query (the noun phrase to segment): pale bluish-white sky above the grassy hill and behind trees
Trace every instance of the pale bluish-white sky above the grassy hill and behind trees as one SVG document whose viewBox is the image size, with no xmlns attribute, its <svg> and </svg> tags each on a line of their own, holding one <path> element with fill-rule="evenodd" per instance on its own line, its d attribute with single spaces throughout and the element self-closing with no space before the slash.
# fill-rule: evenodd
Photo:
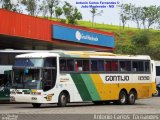
<svg viewBox="0 0 160 120">
<path fill-rule="evenodd" d="M 13 3 L 16 3 L 17 0 L 11 0 Z M 92 14 L 90 13 L 90 8 L 81 8 L 80 4 L 76 4 L 76 2 L 119 2 L 121 3 L 132 3 L 136 6 L 150 6 L 150 5 L 157 5 L 160 6 L 160 0 L 60 0 L 61 4 L 64 3 L 64 1 L 67 1 L 71 3 L 73 6 L 76 6 L 79 11 L 82 13 L 83 20 L 85 21 L 91 21 L 92 20 Z M 115 6 L 114 8 L 98 8 L 98 11 L 103 10 L 103 13 L 101 16 L 95 17 L 96 23 L 104 23 L 104 24 L 112 24 L 112 25 L 122 25 L 121 21 L 119 19 L 119 13 L 120 8 Z M 129 21 L 126 26 L 129 27 L 136 27 L 136 24 L 134 22 Z M 152 26 L 154 28 L 154 26 Z"/>
</svg>

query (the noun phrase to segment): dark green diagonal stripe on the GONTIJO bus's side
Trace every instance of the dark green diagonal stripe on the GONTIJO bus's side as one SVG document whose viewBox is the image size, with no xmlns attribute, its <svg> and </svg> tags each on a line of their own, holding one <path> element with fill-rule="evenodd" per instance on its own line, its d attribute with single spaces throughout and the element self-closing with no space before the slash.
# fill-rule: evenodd
<svg viewBox="0 0 160 120">
<path fill-rule="evenodd" d="M 71 74 L 71 77 L 78 89 L 78 92 L 82 98 L 83 101 L 91 101 L 91 96 L 89 94 L 89 91 L 82 79 L 82 76 L 80 74 Z"/>
</svg>

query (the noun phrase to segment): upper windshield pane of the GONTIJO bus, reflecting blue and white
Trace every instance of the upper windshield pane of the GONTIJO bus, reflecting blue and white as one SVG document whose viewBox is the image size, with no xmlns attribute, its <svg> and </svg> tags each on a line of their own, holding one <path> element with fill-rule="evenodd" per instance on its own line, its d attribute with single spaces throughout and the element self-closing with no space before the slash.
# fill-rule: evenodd
<svg viewBox="0 0 160 120">
<path fill-rule="evenodd" d="M 44 59 L 42 58 L 17 58 L 15 60 L 16 67 L 42 67 Z"/>
</svg>

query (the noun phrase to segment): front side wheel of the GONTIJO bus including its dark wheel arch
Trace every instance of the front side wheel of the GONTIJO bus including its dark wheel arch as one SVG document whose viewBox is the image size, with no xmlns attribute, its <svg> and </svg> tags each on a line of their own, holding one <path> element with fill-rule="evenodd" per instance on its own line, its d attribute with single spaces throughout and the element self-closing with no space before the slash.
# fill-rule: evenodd
<svg viewBox="0 0 160 120">
<path fill-rule="evenodd" d="M 70 94 L 67 90 L 61 91 L 58 97 L 58 106 L 65 107 L 70 102 Z"/>
</svg>

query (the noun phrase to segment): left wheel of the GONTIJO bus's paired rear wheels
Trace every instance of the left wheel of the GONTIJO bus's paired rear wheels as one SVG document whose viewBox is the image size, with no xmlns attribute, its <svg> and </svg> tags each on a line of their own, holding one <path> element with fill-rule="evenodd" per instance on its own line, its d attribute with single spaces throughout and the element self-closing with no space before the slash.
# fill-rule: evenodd
<svg viewBox="0 0 160 120">
<path fill-rule="evenodd" d="M 122 90 L 119 93 L 119 99 L 117 102 L 119 105 L 125 105 L 127 103 L 127 93 L 125 91 Z"/>
</svg>

